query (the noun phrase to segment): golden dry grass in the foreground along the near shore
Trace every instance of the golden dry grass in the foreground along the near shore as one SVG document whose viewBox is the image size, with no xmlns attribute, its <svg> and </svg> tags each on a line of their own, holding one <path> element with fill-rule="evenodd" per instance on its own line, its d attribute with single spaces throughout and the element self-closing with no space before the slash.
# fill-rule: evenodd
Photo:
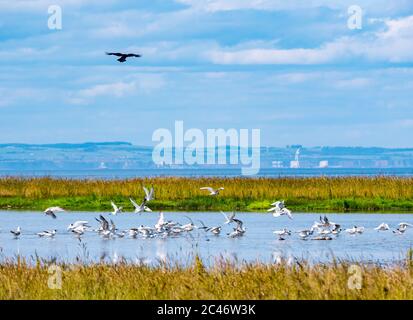
<svg viewBox="0 0 413 320">
<path fill-rule="evenodd" d="M 413 265 L 358 265 L 361 289 L 351 289 L 350 264 L 310 266 L 220 264 L 206 269 L 130 264 L 60 265 L 61 289 L 38 263 L 0 265 L 0 299 L 413 299 Z M 353 287 L 354 288 L 354 287 Z"/>
</svg>

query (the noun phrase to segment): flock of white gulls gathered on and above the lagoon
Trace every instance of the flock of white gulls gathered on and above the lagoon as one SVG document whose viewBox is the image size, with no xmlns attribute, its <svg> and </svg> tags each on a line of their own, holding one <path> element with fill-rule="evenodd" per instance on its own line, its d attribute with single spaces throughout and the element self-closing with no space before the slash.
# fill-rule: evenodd
<svg viewBox="0 0 413 320">
<path fill-rule="evenodd" d="M 134 213 L 152 212 L 152 210 L 148 207 L 148 203 L 155 198 L 154 188 L 152 187 L 149 190 L 148 188 L 143 187 L 143 190 L 145 192 L 145 196 L 141 204 L 138 204 L 135 200 L 129 198 L 131 204 L 135 208 Z M 201 188 L 201 190 L 208 191 L 210 196 L 218 196 L 220 191 L 224 190 L 224 188 L 221 187 L 214 189 L 211 187 L 203 187 Z M 113 207 L 111 215 L 118 215 L 124 212 L 123 207 L 118 207 L 113 201 L 111 201 L 111 205 Z M 61 212 L 65 212 L 65 210 L 61 207 L 50 207 L 44 211 L 47 216 L 50 216 L 53 219 L 56 219 L 57 214 Z M 272 212 L 272 215 L 274 217 L 286 216 L 289 219 L 293 219 L 291 210 L 289 210 L 285 206 L 284 201 L 276 201 L 272 203 L 267 212 Z M 159 219 L 154 226 L 140 225 L 139 227 L 133 227 L 127 230 L 119 230 L 112 219 L 105 218 L 101 214 L 98 218 L 95 218 L 95 220 L 99 223 L 98 228 L 92 228 L 88 221 L 79 220 L 71 223 L 67 227 L 67 231 L 75 234 L 79 238 L 86 232 L 96 232 L 103 238 L 123 238 L 125 236 L 132 238 L 165 238 L 170 236 L 188 234 L 193 230 L 203 230 L 205 233 L 218 236 L 221 234 L 224 225 L 232 225 L 234 226 L 232 228 L 232 231 L 226 234 L 228 237 L 237 238 L 242 237 L 245 234 L 246 228 L 244 227 L 244 223 L 240 219 L 236 218 L 235 212 L 227 215 L 226 213 L 221 211 L 221 214 L 225 218 L 221 225 L 207 226 L 201 220 L 198 220 L 199 224 L 196 225 L 192 221 L 192 219 L 186 215 L 184 217 L 188 220 L 188 222 L 184 224 L 172 220 L 166 220 L 164 213 L 160 212 Z M 396 229 L 392 230 L 392 232 L 398 235 L 402 235 L 409 227 L 413 227 L 413 225 L 407 222 L 401 222 L 398 224 Z M 381 223 L 379 226 L 374 228 L 374 230 L 378 232 L 388 231 L 390 230 L 390 227 L 386 223 Z M 324 215 L 324 217 L 320 216 L 319 220 L 315 221 L 310 228 L 295 231 L 294 233 L 298 234 L 298 237 L 302 240 L 333 240 L 342 231 L 351 235 L 357 235 L 362 234 L 365 231 L 365 228 L 362 226 L 353 226 L 352 228 L 343 230 L 340 224 L 330 221 L 328 217 Z M 15 230 L 11 230 L 10 232 L 14 235 L 15 238 L 20 237 L 22 234 L 20 227 L 17 227 Z M 273 233 L 279 240 L 286 240 L 287 237 L 293 234 L 293 232 L 288 228 L 275 230 L 273 231 Z M 39 237 L 48 238 L 54 237 L 56 234 L 57 230 L 45 230 L 37 233 Z"/>
</svg>

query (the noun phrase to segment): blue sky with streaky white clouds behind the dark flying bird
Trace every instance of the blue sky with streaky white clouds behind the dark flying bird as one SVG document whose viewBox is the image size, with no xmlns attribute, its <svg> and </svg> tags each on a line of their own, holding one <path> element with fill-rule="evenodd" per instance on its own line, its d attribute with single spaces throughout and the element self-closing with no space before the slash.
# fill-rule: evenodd
<svg viewBox="0 0 413 320">
<path fill-rule="evenodd" d="M 0 0 L 0 143 L 152 145 L 178 120 L 263 146 L 412 147 L 413 2 Z"/>
</svg>

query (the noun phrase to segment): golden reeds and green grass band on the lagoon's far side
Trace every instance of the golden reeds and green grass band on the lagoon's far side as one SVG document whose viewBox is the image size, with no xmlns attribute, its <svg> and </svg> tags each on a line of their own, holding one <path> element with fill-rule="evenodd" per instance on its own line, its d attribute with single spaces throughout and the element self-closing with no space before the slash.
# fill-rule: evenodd
<svg viewBox="0 0 413 320">
<path fill-rule="evenodd" d="M 72 180 L 0 179 L 0 208 L 42 210 L 59 205 L 68 210 L 111 210 L 114 200 L 132 210 L 128 198 L 143 198 L 142 186 L 154 186 L 154 210 L 260 211 L 278 199 L 294 211 L 413 210 L 413 178 L 143 178 Z M 210 197 L 202 186 L 225 190 Z"/>
</svg>

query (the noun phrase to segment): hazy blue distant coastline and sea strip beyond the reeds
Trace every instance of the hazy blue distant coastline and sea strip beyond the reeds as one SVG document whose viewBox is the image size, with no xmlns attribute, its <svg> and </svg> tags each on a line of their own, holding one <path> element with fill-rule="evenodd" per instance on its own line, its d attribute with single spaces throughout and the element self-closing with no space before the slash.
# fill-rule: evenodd
<svg viewBox="0 0 413 320">
<path fill-rule="evenodd" d="M 129 142 L 86 142 L 56 144 L 0 144 L 0 175 L 39 175 L 49 172 L 118 172 L 118 178 L 135 170 L 139 175 L 240 175 L 241 165 L 229 163 L 230 146 L 216 147 L 227 162 L 214 165 L 157 166 L 153 147 Z M 297 155 L 297 150 L 300 150 Z M 207 154 L 207 149 L 205 149 Z M 260 148 L 260 175 L 372 175 L 408 172 L 413 175 L 413 148 L 329 147 L 291 145 Z M 390 172 L 390 173 L 389 173 Z M 117 173 L 114 173 L 115 176 Z M 403 173 L 402 173 L 403 174 Z M 135 176 L 139 176 L 136 174 Z M 62 176 L 62 175 L 61 175 Z M 131 176 L 129 176 L 131 177 Z"/>
</svg>

